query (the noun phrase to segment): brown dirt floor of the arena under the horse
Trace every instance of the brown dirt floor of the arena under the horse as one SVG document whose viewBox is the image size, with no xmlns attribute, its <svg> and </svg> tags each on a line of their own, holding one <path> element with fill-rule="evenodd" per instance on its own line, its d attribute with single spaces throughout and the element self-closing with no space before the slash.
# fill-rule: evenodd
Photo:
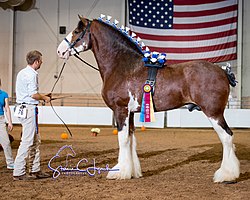
<svg viewBox="0 0 250 200">
<path fill-rule="evenodd" d="M 61 139 L 63 126 L 41 126 L 42 169 L 52 175 L 48 163 L 64 145 L 72 145 L 76 156 L 69 165 L 85 158 L 86 169 L 95 165 L 105 168 L 117 163 L 117 136 L 112 127 L 99 127 L 97 137 L 93 127 L 70 127 L 73 137 Z M 147 129 L 136 130 L 137 149 L 143 177 L 131 180 L 107 180 L 107 172 L 60 174 L 57 178 L 33 181 L 13 181 L 0 151 L 0 199 L 250 199 L 250 129 L 234 129 L 234 143 L 241 163 L 241 174 L 235 184 L 213 183 L 219 168 L 222 147 L 212 129 Z M 15 126 L 12 135 L 13 154 L 20 142 L 21 127 Z M 66 154 L 65 154 L 66 155 Z M 62 157 L 53 162 L 65 164 Z M 74 168 L 74 167 L 73 167 Z"/>
</svg>

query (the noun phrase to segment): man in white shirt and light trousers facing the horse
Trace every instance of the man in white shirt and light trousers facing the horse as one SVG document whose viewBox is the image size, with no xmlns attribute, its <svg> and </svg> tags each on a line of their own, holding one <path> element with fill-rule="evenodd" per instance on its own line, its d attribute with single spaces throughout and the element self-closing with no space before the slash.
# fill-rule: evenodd
<svg viewBox="0 0 250 200">
<path fill-rule="evenodd" d="M 50 102 L 50 97 L 38 93 L 38 73 L 42 64 L 42 54 L 30 51 L 26 56 L 27 66 L 17 74 L 16 116 L 22 124 L 22 137 L 15 159 L 14 180 L 33 180 L 47 178 L 40 169 L 40 135 L 38 132 L 37 105 L 39 100 Z M 26 174 L 26 158 L 29 157 L 29 173 Z"/>
</svg>

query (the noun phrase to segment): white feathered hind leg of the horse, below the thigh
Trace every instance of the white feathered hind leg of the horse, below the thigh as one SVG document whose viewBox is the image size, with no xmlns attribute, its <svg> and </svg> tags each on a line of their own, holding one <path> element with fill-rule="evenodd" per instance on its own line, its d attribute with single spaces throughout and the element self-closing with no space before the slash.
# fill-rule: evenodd
<svg viewBox="0 0 250 200">
<path fill-rule="evenodd" d="M 223 146 L 223 158 L 220 168 L 214 174 L 214 182 L 233 182 L 240 175 L 240 163 L 235 155 L 233 133 L 223 116 L 209 118 Z"/>
</svg>

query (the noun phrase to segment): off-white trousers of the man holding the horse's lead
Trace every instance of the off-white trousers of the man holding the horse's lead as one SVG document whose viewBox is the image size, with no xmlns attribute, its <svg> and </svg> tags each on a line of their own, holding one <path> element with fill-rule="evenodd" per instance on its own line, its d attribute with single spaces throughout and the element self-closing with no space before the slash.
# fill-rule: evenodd
<svg viewBox="0 0 250 200">
<path fill-rule="evenodd" d="M 40 150 L 41 143 L 37 124 L 37 107 L 26 105 L 27 117 L 19 118 L 22 124 L 22 137 L 15 159 L 13 176 L 26 174 L 26 159 L 28 158 L 29 173 L 40 171 Z"/>
</svg>

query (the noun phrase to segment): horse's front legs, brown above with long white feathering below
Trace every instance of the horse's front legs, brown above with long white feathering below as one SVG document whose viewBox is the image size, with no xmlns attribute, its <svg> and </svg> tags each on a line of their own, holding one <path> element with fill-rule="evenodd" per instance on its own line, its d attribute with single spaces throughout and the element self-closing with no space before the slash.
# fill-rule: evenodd
<svg viewBox="0 0 250 200">
<path fill-rule="evenodd" d="M 136 140 L 134 134 L 131 134 L 131 131 L 134 132 L 134 126 L 129 123 L 131 121 L 131 115 L 127 109 L 116 111 L 115 115 L 118 127 L 119 157 L 118 163 L 113 169 L 119 169 L 119 171 L 110 171 L 107 178 L 138 178 L 141 176 L 141 168 L 136 153 Z"/>
</svg>

